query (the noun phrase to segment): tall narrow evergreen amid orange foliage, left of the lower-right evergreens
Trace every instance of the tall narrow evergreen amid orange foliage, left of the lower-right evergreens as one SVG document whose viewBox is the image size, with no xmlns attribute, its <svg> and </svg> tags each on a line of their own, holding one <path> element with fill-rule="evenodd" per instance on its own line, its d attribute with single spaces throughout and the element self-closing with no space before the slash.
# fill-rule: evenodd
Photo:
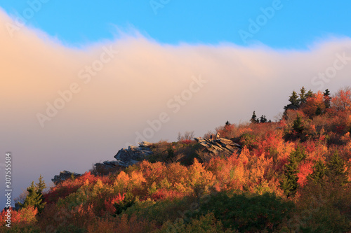
<svg viewBox="0 0 351 233">
<path fill-rule="evenodd" d="M 298 146 L 285 164 L 283 181 L 280 183 L 286 197 L 293 197 L 298 189 L 298 164 L 305 159 L 305 150 Z"/>
</svg>

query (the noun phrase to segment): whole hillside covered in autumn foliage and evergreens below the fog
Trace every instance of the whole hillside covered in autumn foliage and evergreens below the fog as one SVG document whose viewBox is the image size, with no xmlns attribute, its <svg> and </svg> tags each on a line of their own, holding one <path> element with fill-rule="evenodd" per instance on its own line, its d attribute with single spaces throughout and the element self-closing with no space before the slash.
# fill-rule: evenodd
<svg viewBox="0 0 351 233">
<path fill-rule="evenodd" d="M 203 136 L 230 150 L 187 133 L 147 144 L 152 154 L 128 167 L 94 167 L 47 191 L 39 181 L 11 211 L 11 230 L 2 211 L 0 230 L 350 232 L 350 88 L 302 88 L 284 109 L 277 122 L 253 114 Z"/>
</svg>

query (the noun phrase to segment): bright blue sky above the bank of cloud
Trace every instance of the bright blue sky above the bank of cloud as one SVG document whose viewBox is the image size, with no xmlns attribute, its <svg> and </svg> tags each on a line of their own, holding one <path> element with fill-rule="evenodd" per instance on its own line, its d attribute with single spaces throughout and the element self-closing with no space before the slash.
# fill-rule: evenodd
<svg viewBox="0 0 351 233">
<path fill-rule="evenodd" d="M 283 49 L 304 49 L 331 36 L 351 36 L 351 1 L 41 1 L 1 0 L 0 6 L 9 15 L 23 17 L 27 13 L 27 26 L 74 47 L 113 40 L 117 28 L 127 32 L 136 29 L 159 43 L 263 43 Z M 29 3 L 38 7 L 33 15 L 27 10 Z M 263 15 L 261 8 L 274 4 L 279 4 L 279 9 L 244 41 L 239 31 L 250 32 L 249 20 L 256 22 Z"/>
</svg>

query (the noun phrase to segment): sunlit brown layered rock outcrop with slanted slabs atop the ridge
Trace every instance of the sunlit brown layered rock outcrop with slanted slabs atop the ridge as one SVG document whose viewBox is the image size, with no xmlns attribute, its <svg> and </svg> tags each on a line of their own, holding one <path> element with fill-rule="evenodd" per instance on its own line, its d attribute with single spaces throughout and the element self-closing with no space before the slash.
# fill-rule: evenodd
<svg viewBox="0 0 351 233">
<path fill-rule="evenodd" d="M 204 146 L 209 153 L 215 155 L 220 152 L 237 153 L 239 155 L 241 152 L 241 146 L 230 139 L 219 138 L 211 140 L 199 137 L 195 138 L 195 140 L 200 143 L 201 146 Z"/>
</svg>

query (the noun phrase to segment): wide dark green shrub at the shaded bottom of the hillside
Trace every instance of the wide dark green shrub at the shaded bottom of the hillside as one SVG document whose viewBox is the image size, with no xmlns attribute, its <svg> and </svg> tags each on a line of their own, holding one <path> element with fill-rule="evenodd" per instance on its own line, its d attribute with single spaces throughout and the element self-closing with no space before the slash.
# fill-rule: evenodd
<svg viewBox="0 0 351 233">
<path fill-rule="evenodd" d="M 219 192 L 212 195 L 208 202 L 201 204 L 199 214 L 213 212 L 224 227 L 239 232 L 275 232 L 289 218 L 293 206 L 292 202 L 285 202 L 270 193 L 227 195 Z"/>
</svg>

